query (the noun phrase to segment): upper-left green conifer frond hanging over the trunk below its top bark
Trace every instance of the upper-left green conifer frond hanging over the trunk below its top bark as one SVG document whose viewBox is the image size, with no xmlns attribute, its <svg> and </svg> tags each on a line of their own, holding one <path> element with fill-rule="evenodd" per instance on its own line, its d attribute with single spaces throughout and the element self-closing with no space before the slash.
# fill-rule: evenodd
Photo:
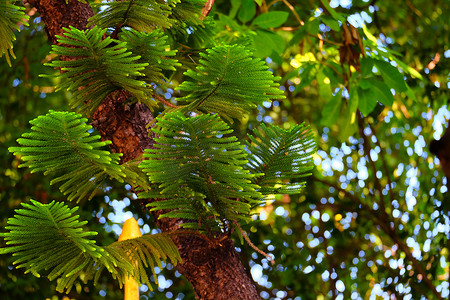
<svg viewBox="0 0 450 300">
<path fill-rule="evenodd" d="M 46 65 L 64 71 L 58 75 L 61 83 L 57 90 L 72 92 L 69 103 L 72 108 L 90 115 L 107 95 L 122 89 L 139 100 L 149 98 L 149 86 L 136 79 L 143 75 L 141 71 L 148 64 L 138 62 L 140 56 L 128 51 L 125 42 L 110 37 L 103 39 L 106 29 L 97 27 L 84 31 L 74 27 L 64 30 L 64 36 L 58 37 L 58 42 L 64 46 L 53 45 L 51 53 L 70 59 L 54 60 Z"/>
</svg>

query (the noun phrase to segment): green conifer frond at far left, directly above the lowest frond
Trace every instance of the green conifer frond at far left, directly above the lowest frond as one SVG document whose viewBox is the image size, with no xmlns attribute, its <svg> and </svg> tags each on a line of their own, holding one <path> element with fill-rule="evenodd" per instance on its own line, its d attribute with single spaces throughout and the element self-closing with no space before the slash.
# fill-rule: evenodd
<svg viewBox="0 0 450 300">
<path fill-rule="evenodd" d="M 118 164 L 120 154 L 101 150 L 111 142 L 91 135 L 86 121 L 79 114 L 50 111 L 30 121 L 32 131 L 22 134 L 20 147 L 9 151 L 21 156 L 21 167 L 44 172 L 53 178 L 50 184 L 61 183 L 69 200 L 91 199 L 107 179 L 123 182 L 126 175 Z"/>
</svg>

